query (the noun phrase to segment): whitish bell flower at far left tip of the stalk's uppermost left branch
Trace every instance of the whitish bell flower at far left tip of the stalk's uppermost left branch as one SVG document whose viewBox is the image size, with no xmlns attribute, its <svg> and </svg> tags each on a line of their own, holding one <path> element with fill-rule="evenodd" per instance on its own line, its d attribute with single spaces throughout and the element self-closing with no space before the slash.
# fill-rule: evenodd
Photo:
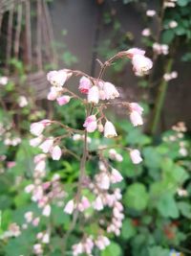
<svg viewBox="0 0 191 256">
<path fill-rule="evenodd" d="M 67 78 L 67 72 L 64 70 L 53 70 L 47 74 L 47 80 L 50 81 L 53 86 L 63 86 Z"/>
</svg>

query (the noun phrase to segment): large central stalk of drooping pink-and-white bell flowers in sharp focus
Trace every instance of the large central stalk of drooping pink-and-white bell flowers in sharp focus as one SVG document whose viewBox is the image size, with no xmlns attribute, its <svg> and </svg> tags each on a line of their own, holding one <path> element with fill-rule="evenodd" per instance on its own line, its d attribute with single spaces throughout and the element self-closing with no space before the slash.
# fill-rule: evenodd
<svg viewBox="0 0 191 256">
<path fill-rule="evenodd" d="M 101 64 L 101 70 L 98 78 L 93 78 L 78 70 L 58 70 L 51 71 L 47 75 L 48 81 L 51 82 L 51 90 L 48 94 L 48 100 L 57 101 L 58 105 L 66 105 L 73 98 L 80 101 L 85 106 L 86 116 L 81 129 L 70 128 L 58 121 L 42 120 L 31 125 L 31 132 L 35 138 L 32 138 L 30 144 L 32 147 L 38 147 L 43 153 L 34 157 L 33 183 L 26 187 L 26 192 L 32 194 L 32 200 L 35 201 L 39 208 L 42 209 L 42 215 L 51 215 L 51 204 L 56 202 L 58 206 L 64 206 L 63 211 L 68 215 L 74 214 L 74 220 L 78 215 L 88 223 L 93 216 L 98 225 L 99 232 L 94 236 L 83 233 L 84 239 L 78 244 L 73 245 L 73 254 L 78 255 L 86 253 L 92 255 L 95 247 L 102 250 L 110 241 L 105 236 L 106 233 L 120 234 L 122 220 L 124 218 L 123 205 L 120 189 L 116 188 L 118 182 L 123 180 L 120 172 L 111 165 L 111 161 L 121 162 L 123 156 L 114 148 L 99 147 L 96 149 L 96 155 L 91 155 L 89 144 L 92 139 L 88 136 L 96 130 L 103 133 L 107 139 L 117 137 L 117 129 L 114 124 L 108 120 L 104 109 L 110 105 L 122 105 L 130 116 L 130 121 L 134 127 L 142 126 L 143 108 L 137 103 L 118 102 L 119 92 L 117 87 L 110 81 L 102 79 L 105 68 L 116 58 L 130 58 L 133 70 L 137 76 L 148 74 L 153 66 L 152 60 L 145 57 L 145 51 L 133 48 L 128 51 L 119 52 L 115 57 L 110 58 Z M 78 96 L 67 87 L 67 81 L 72 76 L 79 76 L 78 90 L 84 97 Z M 115 101 L 114 101 L 115 100 Z M 117 101 L 116 101 L 117 100 Z M 63 135 L 53 137 L 53 133 L 47 135 L 52 126 L 58 125 L 63 128 Z M 46 131 L 46 132 L 45 132 Z M 53 160 L 59 160 L 62 155 L 61 139 L 68 137 L 73 141 L 83 141 L 84 149 L 80 157 L 76 156 L 73 151 L 72 155 L 80 158 L 79 179 L 76 185 L 76 193 L 72 198 L 68 195 L 68 201 L 63 203 L 67 194 L 61 187 L 59 176 L 53 175 L 51 181 L 44 181 L 46 177 L 46 160 L 51 156 Z M 65 149 L 66 151 L 68 149 Z M 134 164 L 142 161 L 140 152 L 132 149 L 122 149 L 129 151 L 129 155 Z M 105 156 L 105 152 L 107 156 Z M 96 157 L 98 160 L 98 170 L 96 174 L 86 174 L 87 158 Z M 88 193 L 87 193 L 88 191 Z M 109 208 L 112 212 L 111 220 L 106 221 L 104 218 L 96 218 L 96 212 L 104 216 L 105 209 Z M 32 213 L 26 213 L 26 221 L 32 222 Z M 76 223 L 75 221 L 75 223 Z M 73 227 L 74 229 L 74 227 Z M 71 230 L 68 231 L 69 233 Z M 100 235 L 102 234 L 102 235 Z M 66 234 L 67 237 L 67 234 Z M 47 232 L 39 233 L 37 244 L 33 245 L 34 254 L 43 253 L 43 243 L 49 243 L 50 234 Z"/>
</svg>

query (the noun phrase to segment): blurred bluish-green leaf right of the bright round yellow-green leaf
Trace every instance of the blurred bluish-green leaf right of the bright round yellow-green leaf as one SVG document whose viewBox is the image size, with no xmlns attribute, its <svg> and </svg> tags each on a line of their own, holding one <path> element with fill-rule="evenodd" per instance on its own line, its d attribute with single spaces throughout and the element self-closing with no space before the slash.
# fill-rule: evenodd
<svg viewBox="0 0 191 256">
<path fill-rule="evenodd" d="M 177 219 L 180 216 L 178 205 L 171 194 L 163 194 L 157 201 L 157 208 L 165 218 Z"/>
</svg>

